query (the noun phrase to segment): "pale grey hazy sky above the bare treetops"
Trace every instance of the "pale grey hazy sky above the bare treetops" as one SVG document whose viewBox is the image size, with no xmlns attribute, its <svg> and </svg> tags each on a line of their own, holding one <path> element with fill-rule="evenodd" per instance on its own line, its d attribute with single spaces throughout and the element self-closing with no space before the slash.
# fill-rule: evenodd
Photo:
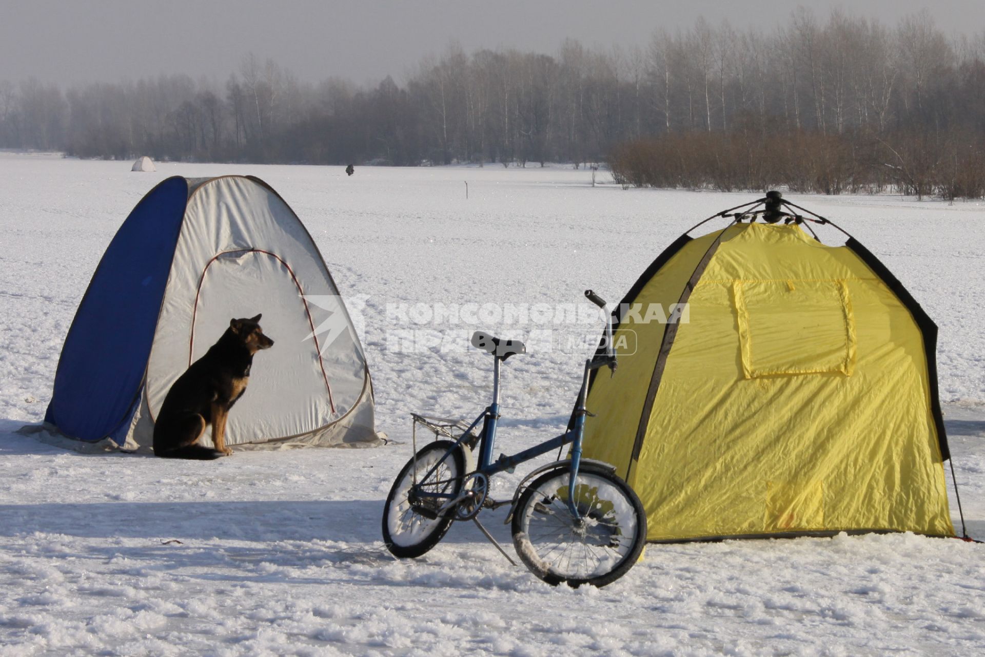
<svg viewBox="0 0 985 657">
<path fill-rule="evenodd" d="M 0 0 L 0 80 L 67 85 L 160 73 L 225 81 L 248 52 L 301 80 L 401 82 L 423 55 L 457 39 L 467 52 L 516 47 L 553 54 L 565 36 L 588 45 L 644 44 L 655 28 L 770 29 L 797 5 L 894 25 L 933 7 L 946 32 L 985 31 L 985 0 Z"/>
</svg>

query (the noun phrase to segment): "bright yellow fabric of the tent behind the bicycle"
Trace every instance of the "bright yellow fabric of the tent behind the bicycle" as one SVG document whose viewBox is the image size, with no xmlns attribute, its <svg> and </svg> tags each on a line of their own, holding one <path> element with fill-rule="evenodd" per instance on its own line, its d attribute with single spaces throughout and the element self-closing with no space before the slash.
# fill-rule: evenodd
<svg viewBox="0 0 985 657">
<path fill-rule="evenodd" d="M 954 534 L 934 345 L 929 361 L 915 302 L 850 246 L 737 224 L 624 299 L 583 448 L 639 494 L 649 540 Z M 675 328 L 654 320 L 683 296 Z"/>
</svg>

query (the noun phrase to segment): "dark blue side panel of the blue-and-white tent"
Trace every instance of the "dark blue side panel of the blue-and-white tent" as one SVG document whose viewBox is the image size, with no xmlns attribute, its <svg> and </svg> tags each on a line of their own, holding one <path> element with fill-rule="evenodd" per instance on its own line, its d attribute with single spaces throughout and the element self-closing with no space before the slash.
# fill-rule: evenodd
<svg viewBox="0 0 985 657">
<path fill-rule="evenodd" d="M 186 180 L 167 178 L 141 199 L 103 253 L 65 338 L 44 417 L 63 433 L 122 444 L 187 201 Z"/>
</svg>

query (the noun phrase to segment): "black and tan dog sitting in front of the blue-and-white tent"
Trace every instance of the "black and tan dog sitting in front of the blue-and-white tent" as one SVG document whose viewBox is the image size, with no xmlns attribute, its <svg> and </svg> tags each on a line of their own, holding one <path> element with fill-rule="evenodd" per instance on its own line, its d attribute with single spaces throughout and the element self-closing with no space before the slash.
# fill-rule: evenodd
<svg viewBox="0 0 985 657">
<path fill-rule="evenodd" d="M 274 346 L 260 317 L 230 320 L 219 342 L 174 381 L 154 425 L 156 456 L 208 461 L 232 454 L 226 446 L 230 409 L 246 391 L 253 356 Z M 214 449 L 197 444 L 209 425 Z"/>
</svg>

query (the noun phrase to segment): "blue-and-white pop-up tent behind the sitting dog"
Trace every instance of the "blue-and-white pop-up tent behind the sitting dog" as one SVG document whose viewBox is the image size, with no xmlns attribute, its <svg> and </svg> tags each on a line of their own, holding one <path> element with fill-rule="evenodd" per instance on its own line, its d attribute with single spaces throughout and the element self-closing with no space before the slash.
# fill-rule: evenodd
<svg viewBox="0 0 985 657">
<path fill-rule="evenodd" d="M 369 371 L 350 315 L 294 211 L 252 176 L 170 177 L 106 248 L 69 329 L 45 422 L 83 441 L 152 444 L 174 380 L 229 327 L 262 313 L 230 414 L 230 445 L 365 444 Z"/>
</svg>

